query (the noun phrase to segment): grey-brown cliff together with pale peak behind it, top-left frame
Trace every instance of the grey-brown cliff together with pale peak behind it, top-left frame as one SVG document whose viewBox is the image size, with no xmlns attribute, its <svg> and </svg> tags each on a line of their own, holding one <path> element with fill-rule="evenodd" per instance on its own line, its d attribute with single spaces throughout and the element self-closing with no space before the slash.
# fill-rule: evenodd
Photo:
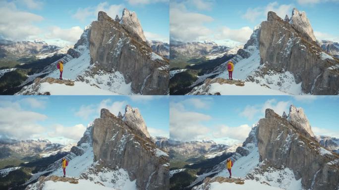
<svg viewBox="0 0 339 190">
<path fill-rule="evenodd" d="M 152 52 L 151 47 L 143 40 L 143 33 L 134 31 L 142 31 L 141 28 L 138 29 L 139 21 L 135 13 L 125 9 L 120 23 L 105 12 L 99 12 L 98 21 L 92 23 L 89 48 L 95 68 L 91 69 L 90 75 L 99 71 L 118 71 L 123 75 L 126 84 L 131 83 L 133 93 L 166 94 L 169 61 Z"/>
</svg>

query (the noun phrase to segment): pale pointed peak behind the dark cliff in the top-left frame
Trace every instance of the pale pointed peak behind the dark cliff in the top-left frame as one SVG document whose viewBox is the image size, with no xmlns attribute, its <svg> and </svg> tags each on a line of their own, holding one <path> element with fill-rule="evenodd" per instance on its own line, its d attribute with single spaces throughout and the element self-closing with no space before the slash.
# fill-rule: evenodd
<svg viewBox="0 0 339 190">
<path fill-rule="evenodd" d="M 142 30 L 140 21 L 134 11 L 130 12 L 127 8 L 124 8 L 120 24 L 122 24 L 128 32 L 139 36 L 144 42 L 146 42 L 144 31 Z"/>
</svg>

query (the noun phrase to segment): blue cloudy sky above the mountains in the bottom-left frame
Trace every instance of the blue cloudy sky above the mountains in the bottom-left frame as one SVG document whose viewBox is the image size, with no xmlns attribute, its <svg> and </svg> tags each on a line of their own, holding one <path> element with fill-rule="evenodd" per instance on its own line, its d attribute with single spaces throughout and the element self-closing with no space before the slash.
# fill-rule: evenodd
<svg viewBox="0 0 339 190">
<path fill-rule="evenodd" d="M 0 136 L 78 142 L 107 108 L 114 115 L 137 107 L 152 136 L 169 137 L 169 96 L 0 96 Z"/>
</svg>

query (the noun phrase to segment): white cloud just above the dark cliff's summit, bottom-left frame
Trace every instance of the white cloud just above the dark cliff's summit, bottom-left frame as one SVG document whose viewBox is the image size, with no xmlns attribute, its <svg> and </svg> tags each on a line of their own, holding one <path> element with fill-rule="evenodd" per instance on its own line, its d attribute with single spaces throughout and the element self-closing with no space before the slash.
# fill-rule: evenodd
<svg viewBox="0 0 339 190">
<path fill-rule="evenodd" d="M 114 115 L 118 115 L 119 111 L 123 113 L 126 101 L 114 101 L 111 99 L 104 99 L 98 105 L 90 104 L 90 105 L 82 105 L 79 110 L 75 112 L 75 116 L 88 119 L 91 115 L 94 115 L 95 118 L 100 116 L 100 110 L 102 108 L 110 110 Z"/>
</svg>

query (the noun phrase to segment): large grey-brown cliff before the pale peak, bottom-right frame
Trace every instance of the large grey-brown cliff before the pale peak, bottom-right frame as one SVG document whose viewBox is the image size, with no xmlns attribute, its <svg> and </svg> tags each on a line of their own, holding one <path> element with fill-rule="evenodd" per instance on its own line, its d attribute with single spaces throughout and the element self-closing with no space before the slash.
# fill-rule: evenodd
<svg viewBox="0 0 339 190">
<path fill-rule="evenodd" d="M 334 190 L 338 186 L 339 156 L 322 147 L 295 122 L 266 109 L 257 138 L 260 161 L 265 167 L 293 170 L 304 189 Z"/>
</svg>

